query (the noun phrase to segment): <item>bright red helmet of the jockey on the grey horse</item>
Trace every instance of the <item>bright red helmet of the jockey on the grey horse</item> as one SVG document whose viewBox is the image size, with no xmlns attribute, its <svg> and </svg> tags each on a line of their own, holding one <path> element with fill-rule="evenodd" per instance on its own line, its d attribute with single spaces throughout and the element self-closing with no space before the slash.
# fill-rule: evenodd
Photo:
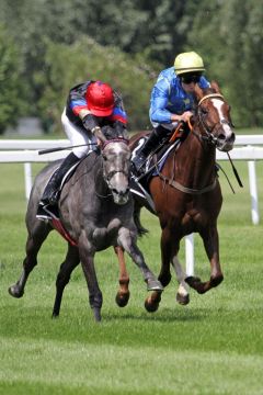
<svg viewBox="0 0 263 395">
<path fill-rule="evenodd" d="M 104 82 L 91 82 L 85 92 L 87 105 L 96 116 L 108 116 L 113 112 L 114 95 L 112 88 Z"/>
</svg>

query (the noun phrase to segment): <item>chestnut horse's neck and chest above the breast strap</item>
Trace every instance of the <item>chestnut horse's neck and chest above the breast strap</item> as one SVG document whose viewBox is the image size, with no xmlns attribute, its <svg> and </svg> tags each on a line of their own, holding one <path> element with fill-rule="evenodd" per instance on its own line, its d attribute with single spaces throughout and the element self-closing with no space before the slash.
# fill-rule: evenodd
<svg viewBox="0 0 263 395">
<path fill-rule="evenodd" d="M 175 154 L 175 180 L 190 188 L 203 188 L 214 181 L 215 161 L 215 147 L 192 133 Z"/>
</svg>

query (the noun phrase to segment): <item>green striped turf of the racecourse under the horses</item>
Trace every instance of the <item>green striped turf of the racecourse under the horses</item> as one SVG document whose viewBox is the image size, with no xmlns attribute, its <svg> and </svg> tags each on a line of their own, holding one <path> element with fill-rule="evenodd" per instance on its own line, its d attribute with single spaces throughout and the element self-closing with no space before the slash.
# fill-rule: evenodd
<svg viewBox="0 0 263 395">
<path fill-rule="evenodd" d="M 0 394 L 263 394 L 263 225 L 251 224 L 248 169 L 236 162 L 244 188 L 226 169 L 236 194 L 220 172 L 224 207 L 219 218 L 225 281 L 205 295 L 191 291 L 191 303 L 175 302 L 174 276 L 160 308 L 144 308 L 147 295 L 140 272 L 127 260 L 130 302 L 116 306 L 118 267 L 111 249 L 98 253 L 103 320 L 93 320 L 80 268 L 65 291 L 60 317 L 52 319 L 55 279 L 65 241 L 53 233 L 39 252 L 24 297 L 8 287 L 19 278 L 24 258 L 24 179 L 21 165 L 0 167 Z M 34 174 L 41 166 L 34 166 Z M 263 163 L 256 163 L 263 207 Z M 261 218 L 262 221 L 262 218 Z M 158 273 L 160 229 L 142 212 L 150 234 L 139 240 Z M 184 242 L 180 258 L 184 261 Z M 195 237 L 195 272 L 209 276 L 202 241 Z"/>
</svg>

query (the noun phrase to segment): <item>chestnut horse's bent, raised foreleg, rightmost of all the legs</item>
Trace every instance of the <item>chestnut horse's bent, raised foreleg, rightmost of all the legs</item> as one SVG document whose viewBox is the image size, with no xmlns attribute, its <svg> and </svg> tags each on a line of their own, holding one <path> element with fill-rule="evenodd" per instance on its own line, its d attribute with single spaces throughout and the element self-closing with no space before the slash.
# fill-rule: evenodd
<svg viewBox="0 0 263 395">
<path fill-rule="evenodd" d="M 203 294 L 211 287 L 219 285 L 224 280 L 224 275 L 219 260 L 219 240 L 216 226 L 201 233 L 201 236 L 203 238 L 207 257 L 210 261 L 210 279 L 206 282 L 202 282 L 198 278 L 190 276 L 185 279 L 185 281 L 190 286 Z"/>
</svg>

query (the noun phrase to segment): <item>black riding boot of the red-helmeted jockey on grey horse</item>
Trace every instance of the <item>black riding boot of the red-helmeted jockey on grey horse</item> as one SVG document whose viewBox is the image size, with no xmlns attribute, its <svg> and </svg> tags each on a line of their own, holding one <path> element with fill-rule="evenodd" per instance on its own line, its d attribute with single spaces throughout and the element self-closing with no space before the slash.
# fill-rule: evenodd
<svg viewBox="0 0 263 395">
<path fill-rule="evenodd" d="M 70 153 L 62 161 L 60 167 L 55 171 L 55 173 L 52 176 L 50 180 L 48 181 L 43 196 L 41 199 L 39 204 L 46 205 L 46 204 L 57 204 L 58 202 L 58 189 L 60 187 L 60 183 L 62 181 L 64 176 L 67 173 L 67 171 L 79 161 L 79 158 L 73 154 Z"/>
</svg>

